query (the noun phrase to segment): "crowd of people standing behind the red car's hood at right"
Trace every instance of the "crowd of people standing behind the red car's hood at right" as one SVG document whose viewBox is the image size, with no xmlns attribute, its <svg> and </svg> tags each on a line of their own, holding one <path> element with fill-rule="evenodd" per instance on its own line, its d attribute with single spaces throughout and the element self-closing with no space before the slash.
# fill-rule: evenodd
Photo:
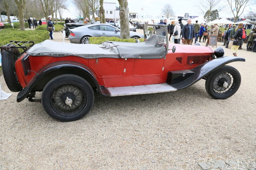
<svg viewBox="0 0 256 170">
<path fill-rule="evenodd" d="M 255 29 L 252 29 L 250 34 L 246 35 L 246 27 L 247 24 L 238 24 L 236 25 L 229 25 L 229 28 L 224 28 L 224 32 L 222 33 L 222 30 L 220 30 L 220 27 L 218 24 L 211 25 L 208 29 L 208 25 L 204 24 L 198 24 L 198 21 L 196 21 L 196 24 L 191 24 L 191 19 L 187 20 L 187 24 L 183 26 L 182 19 L 180 18 L 178 20 L 179 22 L 175 22 L 174 20 L 167 26 L 169 36 L 169 41 L 171 41 L 171 36 L 173 36 L 174 43 L 180 43 L 180 40 L 182 40 L 183 44 L 191 45 L 193 43 L 196 44 L 197 42 L 207 42 L 206 44 L 209 44 L 209 36 L 217 36 L 217 39 L 220 39 L 220 42 L 224 42 L 223 45 L 228 48 L 228 44 L 231 42 L 232 47 L 231 50 L 233 52 L 234 56 L 237 56 L 238 49 L 242 49 L 243 42 L 247 42 L 247 51 L 253 51 L 253 41 L 256 42 L 256 31 Z M 167 20 L 161 19 L 158 24 L 166 25 Z M 198 41 L 199 38 L 199 41 Z M 203 39 L 202 39 L 203 38 Z M 256 43 L 255 43 L 256 45 Z M 256 48 L 256 47 L 254 47 Z"/>
</svg>

